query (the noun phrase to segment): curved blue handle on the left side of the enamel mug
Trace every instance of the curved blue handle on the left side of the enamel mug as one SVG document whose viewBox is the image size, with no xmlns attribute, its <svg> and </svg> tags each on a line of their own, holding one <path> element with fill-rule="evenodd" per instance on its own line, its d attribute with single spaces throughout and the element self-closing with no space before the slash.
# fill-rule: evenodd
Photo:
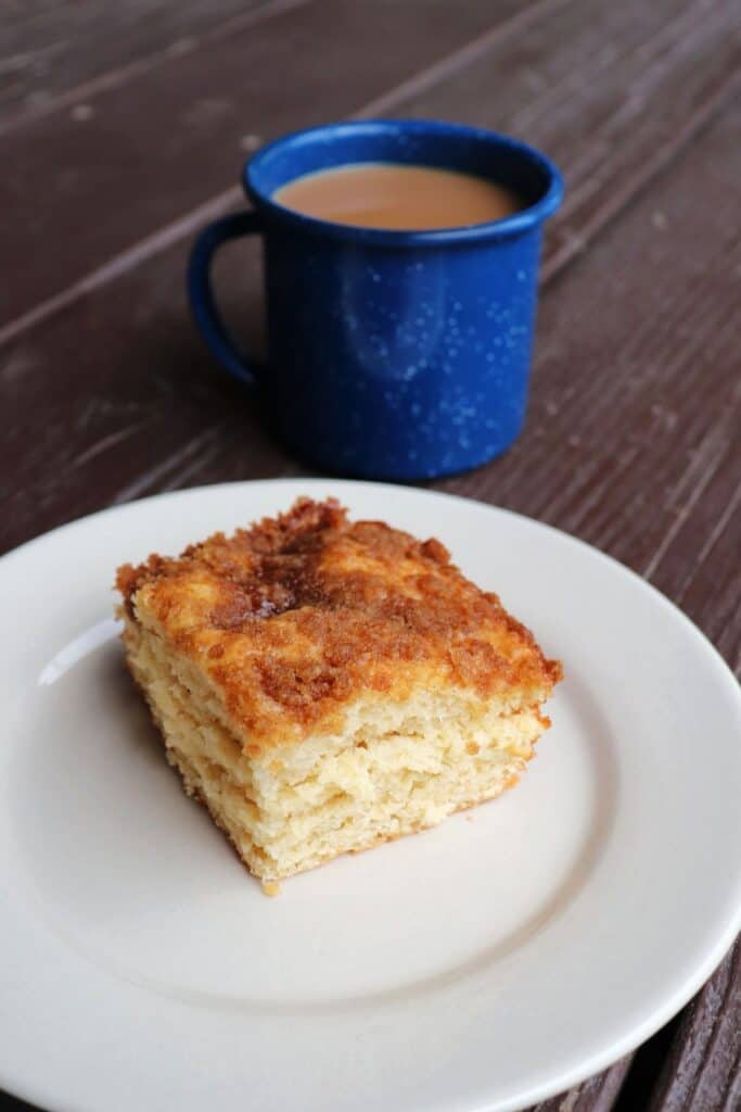
<svg viewBox="0 0 741 1112">
<path fill-rule="evenodd" d="M 257 384 L 260 367 L 239 350 L 221 319 L 211 287 L 211 265 L 222 244 L 261 231 L 262 220 L 258 212 L 232 212 L 200 232 L 188 262 L 188 297 L 201 336 L 224 369 L 246 386 Z"/>
</svg>

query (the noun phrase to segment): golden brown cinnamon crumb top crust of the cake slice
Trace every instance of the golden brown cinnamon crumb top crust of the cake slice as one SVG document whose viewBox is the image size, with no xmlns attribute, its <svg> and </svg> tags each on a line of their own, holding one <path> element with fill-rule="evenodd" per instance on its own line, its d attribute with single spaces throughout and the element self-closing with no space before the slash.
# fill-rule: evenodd
<svg viewBox="0 0 741 1112">
<path fill-rule="evenodd" d="M 561 677 L 497 595 L 435 539 L 356 522 L 334 499 L 299 499 L 178 559 L 119 568 L 128 613 L 209 677 L 261 745 L 331 728 L 369 693 L 419 685 L 540 703 Z"/>
</svg>

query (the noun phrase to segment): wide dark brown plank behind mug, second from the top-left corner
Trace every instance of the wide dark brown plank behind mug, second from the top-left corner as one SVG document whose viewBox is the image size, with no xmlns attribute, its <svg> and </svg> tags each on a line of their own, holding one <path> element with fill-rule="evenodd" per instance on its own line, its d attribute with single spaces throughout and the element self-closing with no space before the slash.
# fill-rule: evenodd
<svg viewBox="0 0 741 1112">
<path fill-rule="evenodd" d="M 236 30 L 102 89 L 83 116 L 64 109 L 0 137 L 0 254 L 13 272 L 0 325 L 213 195 L 239 196 L 241 162 L 262 139 L 360 109 L 520 8 L 321 0 L 279 10 L 259 32 Z"/>
</svg>

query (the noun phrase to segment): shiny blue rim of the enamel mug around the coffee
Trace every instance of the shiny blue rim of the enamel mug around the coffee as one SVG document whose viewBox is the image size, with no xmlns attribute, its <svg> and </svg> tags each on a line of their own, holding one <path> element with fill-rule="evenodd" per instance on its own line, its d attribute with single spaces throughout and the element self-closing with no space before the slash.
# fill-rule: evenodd
<svg viewBox="0 0 741 1112">
<path fill-rule="evenodd" d="M 358 135 L 358 132 L 379 133 L 383 131 L 399 130 L 413 131 L 417 133 L 437 133 L 464 137 L 474 139 L 489 146 L 505 147 L 510 151 L 521 156 L 524 160 L 534 163 L 544 172 L 548 179 L 548 189 L 543 196 L 533 205 L 520 209 L 511 216 L 499 220 L 489 220 L 483 224 L 463 225 L 452 228 L 430 228 L 417 230 L 403 230 L 397 228 L 367 228 L 360 225 L 339 224 L 333 220 L 322 220 L 319 217 L 308 216 L 297 209 L 280 205 L 270 193 L 260 188 L 259 171 L 261 163 L 268 159 L 278 148 L 300 146 L 321 139 L 327 132 L 337 136 Z M 321 171 L 319 171 L 321 172 Z M 297 175 L 297 179 L 303 175 Z M 288 182 L 287 182 L 288 183 Z M 340 239 L 349 239 L 363 242 L 373 242 L 389 246 L 444 246 L 447 244 L 462 244 L 481 239 L 502 239 L 510 236 L 529 231 L 535 225 L 542 224 L 558 209 L 563 197 L 563 178 L 551 159 L 543 155 L 535 147 L 531 147 L 520 139 L 502 135 L 499 131 L 490 131 L 488 128 L 477 128 L 467 123 L 448 123 L 443 120 L 423 119 L 380 119 L 380 120 L 350 120 L 332 123 L 321 123 L 316 127 L 301 128 L 298 131 L 290 131 L 278 139 L 260 147 L 254 151 L 242 167 L 242 187 L 249 200 L 263 212 L 267 212 L 274 220 L 291 224 L 306 231 L 321 232 Z"/>
</svg>

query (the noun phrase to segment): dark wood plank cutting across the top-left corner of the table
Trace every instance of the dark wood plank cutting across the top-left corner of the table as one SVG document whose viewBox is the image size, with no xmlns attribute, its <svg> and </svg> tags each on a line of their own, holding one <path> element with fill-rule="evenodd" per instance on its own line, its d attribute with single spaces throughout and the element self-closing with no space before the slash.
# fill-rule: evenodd
<svg viewBox="0 0 741 1112">
<path fill-rule="evenodd" d="M 214 27 L 271 0 L 4 0 L 0 131 L 59 102 L 118 83 L 164 53 L 188 53 Z"/>
</svg>

